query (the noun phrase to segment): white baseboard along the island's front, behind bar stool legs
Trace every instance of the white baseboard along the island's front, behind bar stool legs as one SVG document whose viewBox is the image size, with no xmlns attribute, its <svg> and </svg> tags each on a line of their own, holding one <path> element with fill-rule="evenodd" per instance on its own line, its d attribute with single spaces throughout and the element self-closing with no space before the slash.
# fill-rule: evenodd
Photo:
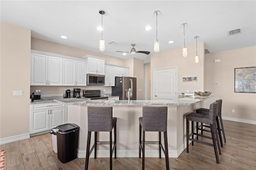
<svg viewBox="0 0 256 170">
<path fill-rule="evenodd" d="M 178 158 L 177 150 L 168 150 L 168 154 L 169 154 L 169 158 Z M 113 154 L 113 156 L 114 156 L 114 154 Z M 139 157 L 139 150 L 117 150 L 116 156 L 118 158 L 136 158 L 136 157 Z M 162 156 L 162 158 L 164 158 L 163 152 L 162 152 L 161 156 Z M 78 150 L 77 157 L 85 158 L 86 150 Z M 98 150 L 97 157 L 98 158 L 108 158 L 109 150 Z M 159 151 L 158 150 L 145 150 L 145 157 L 158 158 Z M 90 158 L 94 158 L 94 152 L 92 152 L 92 154 L 90 155 Z"/>
</svg>

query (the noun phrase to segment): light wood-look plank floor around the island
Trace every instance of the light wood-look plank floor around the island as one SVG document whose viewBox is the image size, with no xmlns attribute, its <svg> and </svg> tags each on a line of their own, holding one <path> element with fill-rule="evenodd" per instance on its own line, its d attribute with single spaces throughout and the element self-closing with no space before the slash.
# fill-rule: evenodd
<svg viewBox="0 0 256 170">
<path fill-rule="evenodd" d="M 255 170 L 256 169 L 256 125 L 223 121 L 227 142 L 216 164 L 214 150 L 210 146 L 190 144 L 178 158 L 169 158 L 170 169 L 206 170 Z M 205 132 L 206 134 L 207 132 Z M 81 134 L 80 134 L 81 135 Z M 170 143 L 172 141 L 168 141 Z M 6 170 L 83 170 L 85 158 L 76 158 L 62 164 L 52 150 L 50 133 L 30 139 L 0 145 L 6 151 Z M 142 158 L 113 159 L 114 170 L 140 170 Z M 109 158 L 90 158 L 90 170 L 109 169 Z M 145 169 L 165 169 L 165 158 L 145 158 Z"/>
</svg>

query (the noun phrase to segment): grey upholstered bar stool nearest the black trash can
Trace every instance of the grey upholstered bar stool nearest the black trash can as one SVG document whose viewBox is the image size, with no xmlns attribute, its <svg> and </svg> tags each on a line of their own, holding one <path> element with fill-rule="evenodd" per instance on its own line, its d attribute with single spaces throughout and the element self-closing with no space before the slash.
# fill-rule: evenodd
<svg viewBox="0 0 256 170">
<path fill-rule="evenodd" d="M 110 170 L 112 170 L 113 151 L 116 158 L 116 117 L 112 117 L 112 107 L 88 107 L 88 136 L 86 148 L 85 170 L 88 170 L 89 157 L 94 149 L 96 158 L 97 144 L 109 144 L 110 146 Z M 112 142 L 112 128 L 114 127 L 114 142 Z M 94 132 L 94 144 L 90 149 L 91 134 Z M 109 142 L 97 141 L 97 132 L 110 132 Z M 114 146 L 112 148 L 112 143 Z"/>
</svg>

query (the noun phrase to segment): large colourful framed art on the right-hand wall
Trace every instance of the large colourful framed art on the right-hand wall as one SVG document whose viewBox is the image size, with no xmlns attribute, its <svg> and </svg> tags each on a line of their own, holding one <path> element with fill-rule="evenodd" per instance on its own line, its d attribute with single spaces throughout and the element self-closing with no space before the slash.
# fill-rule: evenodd
<svg viewBox="0 0 256 170">
<path fill-rule="evenodd" d="M 256 93 L 256 67 L 235 68 L 235 92 Z"/>
</svg>

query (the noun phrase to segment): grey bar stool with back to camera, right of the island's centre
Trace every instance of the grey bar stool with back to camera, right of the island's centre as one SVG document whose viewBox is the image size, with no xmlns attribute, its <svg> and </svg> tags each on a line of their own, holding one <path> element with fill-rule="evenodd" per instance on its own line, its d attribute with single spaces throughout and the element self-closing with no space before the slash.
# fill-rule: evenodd
<svg viewBox="0 0 256 170">
<path fill-rule="evenodd" d="M 145 168 L 145 144 L 159 144 L 159 158 L 161 158 L 161 149 L 165 155 L 166 170 L 169 170 L 169 156 L 167 143 L 167 107 L 142 107 L 142 117 L 140 122 L 140 151 L 142 150 L 142 170 Z M 141 131 L 143 129 L 143 139 L 141 141 Z M 145 131 L 158 132 L 159 139 L 157 142 L 145 141 Z M 164 132 L 164 147 L 161 143 L 161 132 Z"/>
</svg>

